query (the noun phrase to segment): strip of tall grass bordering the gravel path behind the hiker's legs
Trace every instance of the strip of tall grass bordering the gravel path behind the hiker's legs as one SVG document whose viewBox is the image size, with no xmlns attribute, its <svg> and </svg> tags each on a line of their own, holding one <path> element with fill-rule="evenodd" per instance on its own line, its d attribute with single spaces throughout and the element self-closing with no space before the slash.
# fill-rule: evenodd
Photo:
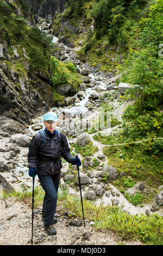
<svg viewBox="0 0 163 256">
<path fill-rule="evenodd" d="M 16 196 L 18 200 L 31 197 L 32 191 L 24 189 L 22 192 L 5 194 L 5 198 Z M 44 192 L 41 187 L 35 188 L 35 209 L 43 203 Z M 94 221 L 98 229 L 111 229 L 121 235 L 122 239 L 139 239 L 147 245 L 162 245 L 163 220 L 158 214 L 150 216 L 130 215 L 117 205 L 94 205 L 90 200 L 83 198 L 84 216 L 86 220 Z M 58 207 L 60 211 L 72 211 L 74 215 L 83 220 L 80 197 L 68 193 L 67 189 L 58 191 Z"/>
</svg>

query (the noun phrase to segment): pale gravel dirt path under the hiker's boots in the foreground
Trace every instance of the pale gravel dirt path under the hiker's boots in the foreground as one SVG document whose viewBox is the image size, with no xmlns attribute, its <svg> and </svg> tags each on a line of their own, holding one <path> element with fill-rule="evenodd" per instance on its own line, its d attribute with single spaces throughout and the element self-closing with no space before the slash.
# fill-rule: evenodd
<svg viewBox="0 0 163 256">
<path fill-rule="evenodd" d="M 0 199 L 0 245 L 31 244 L 32 210 L 29 203 L 30 200 L 25 203 L 13 197 Z M 57 235 L 49 236 L 43 228 L 41 207 L 35 210 L 34 245 L 118 245 L 122 242 L 124 245 L 143 245 L 140 241 L 123 241 L 111 230 L 96 231 L 87 220 L 85 220 L 85 227 L 83 224 L 80 227 L 74 227 L 69 224 L 72 218 L 66 216 L 66 211 L 64 214 L 60 212 L 58 206 L 58 222 L 55 224 Z M 75 222 L 74 219 L 73 221 Z"/>
</svg>

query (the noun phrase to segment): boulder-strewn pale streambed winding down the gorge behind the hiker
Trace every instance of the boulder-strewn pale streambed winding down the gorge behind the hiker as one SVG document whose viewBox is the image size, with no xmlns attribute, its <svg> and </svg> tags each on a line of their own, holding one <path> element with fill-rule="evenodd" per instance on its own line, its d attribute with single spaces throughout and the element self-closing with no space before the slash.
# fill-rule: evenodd
<svg viewBox="0 0 163 256">
<path fill-rule="evenodd" d="M 103 203 L 105 206 L 114 204 L 122 206 L 130 214 L 149 215 L 154 211 L 162 214 L 159 207 L 162 205 L 162 186 L 160 186 L 160 193 L 156 201 L 152 204 L 143 205 L 143 207 L 130 204 L 124 194 L 110 184 L 110 181 L 117 179 L 119 174 L 116 168 L 108 166 L 108 159 L 102 152 L 105 145 L 93 139 L 96 133 L 89 132 L 91 128 L 90 130 L 84 129 L 85 127 L 89 129 L 92 120 L 96 120 L 99 116 L 101 102 L 110 105 L 111 115 L 114 115 L 120 121 L 118 125 L 105 127 L 104 131 L 107 135 L 110 135 L 121 129 L 122 114 L 128 102 L 118 100 L 121 91 L 116 86 L 115 81 L 119 75 L 114 75 L 113 72 L 106 74 L 99 71 L 98 67 L 90 67 L 87 63 L 80 63 L 76 57 L 76 48 L 70 48 L 59 43 L 55 36 L 53 36 L 53 42 L 55 42 L 55 46 L 58 45 L 61 49 L 57 57 L 60 60 L 70 60 L 75 63 L 78 72 L 83 75 L 83 84 L 80 85 L 80 91 L 74 96 L 66 97 L 65 105 L 61 104 L 51 109 L 58 114 L 59 124 L 57 129 L 67 135 L 72 153 L 76 153 L 75 145 L 77 144 L 79 147 L 83 147 L 92 143 L 92 148 L 95 149 L 91 156 L 83 157 L 79 154 L 83 162 L 80 167 L 83 197 L 92 200 L 92 203 L 97 205 Z M 18 127 L 18 123 L 13 124 L 11 120 L 4 120 L 3 130 L 0 133 L 1 191 L 3 187 L 10 191 L 13 188 L 14 190 L 32 189 L 32 179 L 28 176 L 28 147 L 32 137 L 44 128 L 43 115 L 33 119 L 32 125 L 29 125 L 26 129 L 19 127 L 18 130 Z M 108 177 L 107 183 L 103 182 L 105 174 Z M 36 185 L 39 185 L 37 176 L 35 179 Z M 63 187 L 67 187 L 70 193 L 80 196 L 76 166 L 70 166 L 65 161 L 62 161 L 60 189 L 62 190 Z M 130 189 L 130 192 L 139 191 L 141 188 L 142 182 L 136 183 Z"/>
</svg>

